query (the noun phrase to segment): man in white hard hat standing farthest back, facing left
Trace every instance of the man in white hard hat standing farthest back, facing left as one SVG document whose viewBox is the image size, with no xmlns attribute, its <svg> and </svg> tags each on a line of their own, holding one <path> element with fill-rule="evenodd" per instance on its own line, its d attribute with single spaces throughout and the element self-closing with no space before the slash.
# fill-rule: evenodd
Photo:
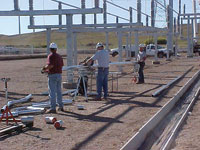
<svg viewBox="0 0 200 150">
<path fill-rule="evenodd" d="M 136 82 L 136 84 L 144 83 L 143 70 L 144 70 L 145 60 L 146 60 L 146 52 L 145 52 L 146 47 L 143 45 L 140 45 L 139 47 L 140 47 L 140 49 L 139 49 L 139 53 L 137 55 L 137 62 L 140 65 L 140 67 L 139 67 L 139 71 L 138 71 L 139 77 L 138 77 L 138 81 Z"/>
</svg>

